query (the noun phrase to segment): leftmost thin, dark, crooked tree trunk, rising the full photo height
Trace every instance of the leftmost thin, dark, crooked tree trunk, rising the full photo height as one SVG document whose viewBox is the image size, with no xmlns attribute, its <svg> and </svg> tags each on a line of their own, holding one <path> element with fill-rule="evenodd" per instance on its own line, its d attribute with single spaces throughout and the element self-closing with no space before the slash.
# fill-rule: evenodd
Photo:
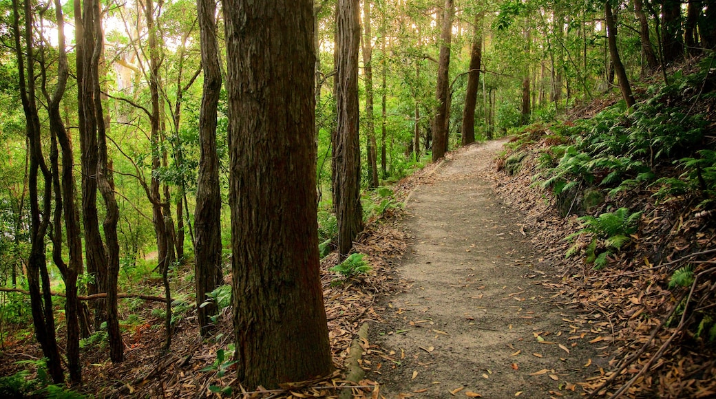
<svg viewBox="0 0 716 399">
<path fill-rule="evenodd" d="M 49 294 L 49 275 L 45 255 L 45 235 L 49 225 L 52 201 L 52 172 L 47 168 L 42 155 L 40 120 L 35 99 L 34 48 L 32 46 L 32 5 L 24 1 L 24 39 L 26 49 L 20 44 L 20 12 L 18 0 L 12 2 L 15 56 L 19 75 L 20 99 L 25 114 L 27 152 L 29 152 L 28 189 L 30 202 L 30 254 L 27 261 L 27 285 L 30 292 L 32 324 L 42 354 L 47 359 L 47 371 L 54 383 L 63 383 L 64 374 L 60 364 L 59 348 L 55 336 L 52 296 Z M 25 65 L 25 61 L 27 65 Z M 26 70 L 25 70 L 26 68 Z M 25 72 L 27 73 L 25 75 Z M 44 179 L 43 207 L 39 205 L 39 172 Z M 42 285 L 42 288 L 41 288 Z"/>
</svg>

